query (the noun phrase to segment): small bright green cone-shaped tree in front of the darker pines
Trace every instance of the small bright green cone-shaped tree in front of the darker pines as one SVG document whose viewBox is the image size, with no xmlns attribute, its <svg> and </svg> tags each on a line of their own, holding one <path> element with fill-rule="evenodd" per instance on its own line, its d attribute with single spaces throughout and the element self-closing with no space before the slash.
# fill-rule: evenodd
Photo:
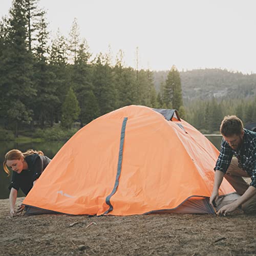
<svg viewBox="0 0 256 256">
<path fill-rule="evenodd" d="M 73 89 L 70 87 L 62 105 L 61 126 L 66 129 L 71 129 L 72 123 L 77 120 L 79 114 L 79 103 Z"/>
</svg>

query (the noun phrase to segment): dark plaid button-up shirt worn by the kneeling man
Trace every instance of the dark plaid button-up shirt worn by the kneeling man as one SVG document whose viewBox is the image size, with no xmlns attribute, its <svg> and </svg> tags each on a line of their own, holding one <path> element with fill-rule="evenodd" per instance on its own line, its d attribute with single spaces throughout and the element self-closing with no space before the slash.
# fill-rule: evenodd
<svg viewBox="0 0 256 256">
<path fill-rule="evenodd" d="M 228 143 L 222 139 L 221 151 L 216 162 L 215 170 L 227 172 L 232 157 L 238 159 L 239 167 L 245 170 L 251 177 L 250 186 L 256 188 L 256 133 L 244 129 L 242 146 L 238 151 L 232 150 Z"/>
</svg>

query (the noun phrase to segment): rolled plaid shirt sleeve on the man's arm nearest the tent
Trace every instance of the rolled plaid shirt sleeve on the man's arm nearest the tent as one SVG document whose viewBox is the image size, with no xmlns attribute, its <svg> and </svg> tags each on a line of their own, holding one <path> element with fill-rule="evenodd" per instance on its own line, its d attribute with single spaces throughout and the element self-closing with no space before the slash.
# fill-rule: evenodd
<svg viewBox="0 0 256 256">
<path fill-rule="evenodd" d="M 230 165 L 232 157 L 233 153 L 230 146 L 224 139 L 222 139 L 220 155 L 218 157 L 214 170 L 220 170 L 225 174 Z"/>
</svg>

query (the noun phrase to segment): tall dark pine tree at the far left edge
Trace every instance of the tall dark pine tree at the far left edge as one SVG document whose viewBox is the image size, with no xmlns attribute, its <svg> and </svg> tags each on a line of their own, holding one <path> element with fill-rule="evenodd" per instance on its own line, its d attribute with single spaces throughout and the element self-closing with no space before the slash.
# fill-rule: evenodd
<svg viewBox="0 0 256 256">
<path fill-rule="evenodd" d="M 0 74 L 3 74 L 3 78 L 0 79 L 0 88 L 1 94 L 3 93 L 6 98 L 6 110 L 13 110 L 13 99 L 23 106 L 16 110 L 15 115 L 11 114 L 13 111 L 5 111 L 7 120 L 15 122 L 15 126 L 18 127 L 20 115 L 31 115 L 28 102 L 35 97 L 36 90 L 32 81 L 33 58 L 28 49 L 24 0 L 14 0 L 9 14 L 10 17 L 5 19 L 5 25 L 1 28 L 1 34 L 4 34 L 5 38 L 4 48 L 2 48 L 4 51 L 2 50 L 0 56 Z M 28 120 L 28 118 L 25 119 Z"/>
</svg>

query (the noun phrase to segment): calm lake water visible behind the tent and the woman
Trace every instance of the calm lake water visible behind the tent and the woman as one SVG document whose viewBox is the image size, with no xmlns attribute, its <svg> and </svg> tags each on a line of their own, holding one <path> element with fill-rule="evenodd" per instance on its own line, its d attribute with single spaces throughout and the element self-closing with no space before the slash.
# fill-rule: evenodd
<svg viewBox="0 0 256 256">
<path fill-rule="evenodd" d="M 206 136 L 212 144 L 214 144 L 217 148 L 220 148 L 222 136 Z M 44 154 L 50 158 L 53 158 L 55 154 L 59 151 L 65 141 L 53 141 L 53 142 L 43 142 L 43 143 L 15 143 L 15 142 L 6 142 L 0 141 L 0 163 L 1 166 L 4 162 L 4 156 L 6 152 L 12 150 L 13 148 L 17 148 L 21 151 L 26 151 L 29 148 L 33 150 L 40 150 L 44 152 Z M 3 167 L 0 171 L 0 199 L 6 199 L 9 197 L 9 189 L 8 186 L 11 181 L 11 175 L 7 177 L 7 174 L 4 172 Z M 19 189 L 18 197 L 24 197 L 23 192 Z"/>
</svg>

